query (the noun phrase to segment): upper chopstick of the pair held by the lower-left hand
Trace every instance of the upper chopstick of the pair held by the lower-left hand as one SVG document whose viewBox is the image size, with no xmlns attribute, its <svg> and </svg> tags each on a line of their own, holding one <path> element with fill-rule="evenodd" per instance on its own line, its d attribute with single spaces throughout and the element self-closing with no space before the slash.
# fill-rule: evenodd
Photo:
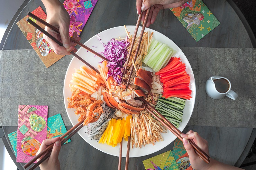
<svg viewBox="0 0 256 170">
<path fill-rule="evenodd" d="M 70 130 L 68 130 L 66 133 L 64 133 L 62 136 L 61 136 L 61 138 L 60 138 L 60 140 L 61 141 L 64 141 L 65 139 L 65 137 L 68 135 L 68 139 L 69 138 L 71 138 L 71 135 L 70 134 L 72 134 L 71 132 L 73 132 L 73 131 L 76 131 L 77 129 L 78 129 L 78 127 L 80 127 L 80 126 L 83 126 L 83 125 L 81 125 L 81 124 L 83 124 L 83 122 L 84 122 L 84 120 L 85 120 L 86 118 L 83 118 L 83 120 L 81 120 L 80 122 L 78 122 L 74 127 L 72 127 Z M 82 127 L 81 127 L 82 128 Z M 77 130 L 78 131 L 78 130 Z M 67 139 L 66 138 L 66 139 Z M 68 140 L 67 139 L 67 140 Z M 23 167 L 25 168 L 25 169 L 27 169 L 32 163 L 34 163 L 38 158 L 40 158 L 40 157 L 42 157 L 45 153 L 47 153 L 49 150 L 51 150 L 52 148 L 53 148 L 53 145 L 54 145 L 54 143 L 52 143 L 52 144 L 50 144 L 47 148 L 45 148 L 42 152 L 40 152 L 37 156 L 35 156 L 33 159 L 31 159 L 28 163 L 26 163 Z"/>
</svg>

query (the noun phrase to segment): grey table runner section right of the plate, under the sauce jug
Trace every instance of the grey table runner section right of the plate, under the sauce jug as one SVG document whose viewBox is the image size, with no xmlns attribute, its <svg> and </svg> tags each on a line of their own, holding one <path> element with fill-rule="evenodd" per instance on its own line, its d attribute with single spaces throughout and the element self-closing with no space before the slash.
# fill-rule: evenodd
<svg viewBox="0 0 256 170">
<path fill-rule="evenodd" d="M 196 100 L 188 125 L 256 128 L 256 49 L 182 47 L 195 76 Z M 238 94 L 214 100 L 205 82 L 220 75 Z"/>
</svg>

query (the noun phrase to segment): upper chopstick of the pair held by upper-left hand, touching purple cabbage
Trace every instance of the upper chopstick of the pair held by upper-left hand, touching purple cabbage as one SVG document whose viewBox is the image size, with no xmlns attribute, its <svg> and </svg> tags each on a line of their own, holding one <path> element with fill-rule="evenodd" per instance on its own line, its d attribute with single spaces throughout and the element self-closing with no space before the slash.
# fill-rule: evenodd
<svg viewBox="0 0 256 170">
<path fill-rule="evenodd" d="M 46 21 L 42 20 L 41 18 L 35 16 L 33 13 L 28 12 L 27 15 L 28 15 L 29 17 L 31 17 L 31 18 L 34 18 L 34 19 L 37 20 L 38 22 L 44 24 L 46 27 L 51 28 L 51 29 L 54 30 L 55 32 L 60 33 L 60 31 L 59 31 L 56 27 L 52 26 L 51 24 L 47 23 Z M 84 49 L 90 51 L 91 53 L 95 54 L 96 56 L 102 58 L 103 60 L 109 61 L 106 57 L 103 57 L 101 54 L 99 54 L 98 52 L 96 52 L 96 51 L 90 49 L 89 47 L 85 46 L 85 45 L 82 44 L 81 42 L 75 40 L 75 39 L 72 38 L 72 37 L 69 37 L 69 38 L 70 38 L 71 41 L 77 43 L 79 46 L 81 46 L 81 47 L 83 47 Z"/>
</svg>

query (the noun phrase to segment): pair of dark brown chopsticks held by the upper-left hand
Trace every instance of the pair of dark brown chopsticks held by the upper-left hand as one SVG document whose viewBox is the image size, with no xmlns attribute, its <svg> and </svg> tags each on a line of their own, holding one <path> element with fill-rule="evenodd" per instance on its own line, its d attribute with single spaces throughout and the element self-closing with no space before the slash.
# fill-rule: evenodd
<svg viewBox="0 0 256 170">
<path fill-rule="evenodd" d="M 39 17 L 35 16 L 33 13 L 28 12 L 27 14 L 29 17 L 34 18 L 36 21 L 44 24 L 46 27 L 51 28 L 52 30 L 54 30 L 57 33 L 60 33 L 60 31 L 52 26 L 51 24 L 47 23 L 46 21 L 40 19 Z M 35 28 L 37 28 L 39 31 L 43 32 L 47 37 L 51 38 L 52 40 L 54 40 L 57 44 L 59 44 L 60 46 L 63 46 L 63 44 L 58 41 L 55 37 L 53 37 L 50 33 L 48 33 L 47 31 L 45 31 L 43 28 L 41 28 L 38 24 L 36 24 L 34 21 L 32 21 L 31 19 L 27 19 L 27 22 L 29 22 L 31 25 L 33 25 Z M 80 45 L 81 47 L 85 48 L 86 50 L 90 51 L 91 53 L 95 54 L 96 56 L 102 58 L 103 60 L 109 61 L 107 58 L 103 57 L 102 55 L 100 55 L 98 52 L 90 49 L 89 47 L 85 46 L 84 44 L 82 44 L 81 42 L 75 40 L 74 38 L 70 37 L 70 40 L 77 43 L 78 45 Z M 90 67 L 91 69 L 93 69 L 94 71 L 96 71 L 97 73 L 100 74 L 98 69 L 95 69 L 93 66 L 91 66 L 91 64 L 89 64 L 88 62 L 86 62 L 84 59 L 82 59 L 80 56 L 78 56 L 75 52 L 71 51 L 70 52 L 73 56 L 75 56 L 76 58 L 78 58 L 79 60 L 81 60 L 84 64 L 86 64 L 88 67 Z"/>
</svg>

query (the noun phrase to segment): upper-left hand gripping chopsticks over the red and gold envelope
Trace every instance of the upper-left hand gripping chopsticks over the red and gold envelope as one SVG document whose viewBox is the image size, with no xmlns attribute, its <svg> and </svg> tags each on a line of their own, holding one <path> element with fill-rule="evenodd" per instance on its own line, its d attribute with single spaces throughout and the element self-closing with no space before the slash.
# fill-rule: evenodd
<svg viewBox="0 0 256 170">
<path fill-rule="evenodd" d="M 61 41 L 64 47 L 60 46 L 51 38 L 45 35 L 44 39 L 49 43 L 53 51 L 58 55 L 67 55 L 70 54 L 71 51 L 76 52 L 77 50 L 74 47 L 76 46 L 76 43 L 70 42 L 68 32 L 70 25 L 70 16 L 68 15 L 64 6 L 58 0 L 42 0 L 42 2 L 44 3 L 47 12 L 46 22 L 58 28 L 60 30 L 60 33 L 57 33 L 48 27 L 45 27 L 45 30 L 57 40 Z M 73 33 L 73 38 L 77 41 L 81 40 L 80 37 L 77 37 L 77 32 Z"/>
</svg>

